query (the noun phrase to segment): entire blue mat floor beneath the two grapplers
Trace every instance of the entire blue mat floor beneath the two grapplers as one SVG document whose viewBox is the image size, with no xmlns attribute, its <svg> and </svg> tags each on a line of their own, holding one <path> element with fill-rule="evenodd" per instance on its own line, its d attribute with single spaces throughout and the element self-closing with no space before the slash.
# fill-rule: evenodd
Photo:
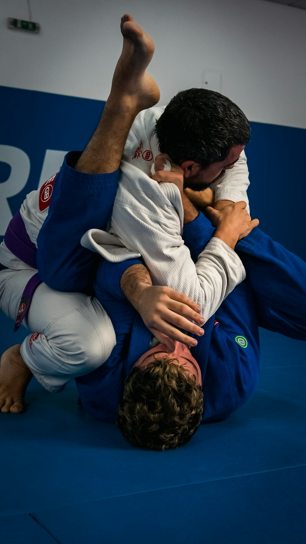
<svg viewBox="0 0 306 544">
<path fill-rule="evenodd" d="M 2 351 L 26 336 L 0 326 Z M 170 452 L 129 446 L 77 406 L 73 382 L 49 394 L 33 379 L 27 412 L 0 414 L 1 544 L 20 527 L 23 544 L 302 542 L 306 343 L 261 331 L 261 353 L 253 399 Z"/>
</svg>

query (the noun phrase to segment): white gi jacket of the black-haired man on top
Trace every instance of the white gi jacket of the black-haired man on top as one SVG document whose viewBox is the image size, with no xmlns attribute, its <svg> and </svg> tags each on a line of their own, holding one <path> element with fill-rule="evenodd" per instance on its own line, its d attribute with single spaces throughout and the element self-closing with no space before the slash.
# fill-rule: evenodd
<svg viewBox="0 0 306 544">
<path fill-rule="evenodd" d="M 143 110 L 129 132 L 121 163 L 121 177 L 108 232 L 95 228 L 84 234 L 84 247 L 111 262 L 142 256 L 153 285 L 166 285 L 201 306 L 205 322 L 238 283 L 245 269 L 236 253 L 212 238 L 196 264 L 184 245 L 183 205 L 173 183 L 157 183 L 148 174 L 159 153 L 155 122 L 164 108 Z M 215 182 L 215 200 L 245 200 L 249 185 L 245 153 L 222 183 Z M 248 208 L 247 208 L 248 209 Z"/>
</svg>

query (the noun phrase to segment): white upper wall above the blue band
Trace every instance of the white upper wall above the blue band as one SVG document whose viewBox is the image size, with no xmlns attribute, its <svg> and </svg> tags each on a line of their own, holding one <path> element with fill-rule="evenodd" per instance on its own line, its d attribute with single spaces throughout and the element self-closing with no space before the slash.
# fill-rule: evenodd
<svg viewBox="0 0 306 544">
<path fill-rule="evenodd" d="M 222 72 L 221 92 L 251 121 L 306 128 L 306 11 L 263 0 L 30 0 L 39 35 L 9 30 L 26 0 L 1 0 L 0 84 L 106 100 L 120 17 L 151 34 L 161 104 Z M 216 89 L 217 90 L 217 89 Z"/>
</svg>

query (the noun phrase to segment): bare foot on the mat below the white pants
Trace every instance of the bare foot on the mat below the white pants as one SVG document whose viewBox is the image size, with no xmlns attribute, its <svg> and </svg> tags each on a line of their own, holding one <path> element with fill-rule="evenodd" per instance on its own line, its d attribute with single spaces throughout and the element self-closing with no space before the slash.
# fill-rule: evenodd
<svg viewBox="0 0 306 544">
<path fill-rule="evenodd" d="M 24 395 L 32 378 L 32 372 L 20 355 L 20 344 L 13 345 L 4 351 L 0 362 L 1 412 L 24 412 Z"/>
</svg>

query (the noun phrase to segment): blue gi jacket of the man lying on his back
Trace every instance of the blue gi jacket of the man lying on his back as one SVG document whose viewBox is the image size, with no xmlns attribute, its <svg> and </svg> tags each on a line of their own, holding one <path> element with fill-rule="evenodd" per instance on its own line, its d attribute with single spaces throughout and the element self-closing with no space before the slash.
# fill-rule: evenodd
<svg viewBox="0 0 306 544">
<path fill-rule="evenodd" d="M 151 332 L 120 289 L 124 270 L 136 259 L 119 264 L 103 261 L 98 268 L 95 293 L 113 323 L 117 344 L 111 356 L 90 374 L 76 379 L 84 409 L 103 421 L 114 421 L 124 380 L 138 358 L 149 349 Z M 229 297 L 232 299 L 230 300 Z M 243 406 L 255 391 L 259 378 L 258 319 L 254 295 L 244 283 L 223 302 L 204 325 L 204 336 L 191 348 L 203 378 L 203 421 L 227 417 Z M 243 311 L 247 308 L 247 312 Z M 247 338 L 243 348 L 235 341 Z"/>
</svg>

